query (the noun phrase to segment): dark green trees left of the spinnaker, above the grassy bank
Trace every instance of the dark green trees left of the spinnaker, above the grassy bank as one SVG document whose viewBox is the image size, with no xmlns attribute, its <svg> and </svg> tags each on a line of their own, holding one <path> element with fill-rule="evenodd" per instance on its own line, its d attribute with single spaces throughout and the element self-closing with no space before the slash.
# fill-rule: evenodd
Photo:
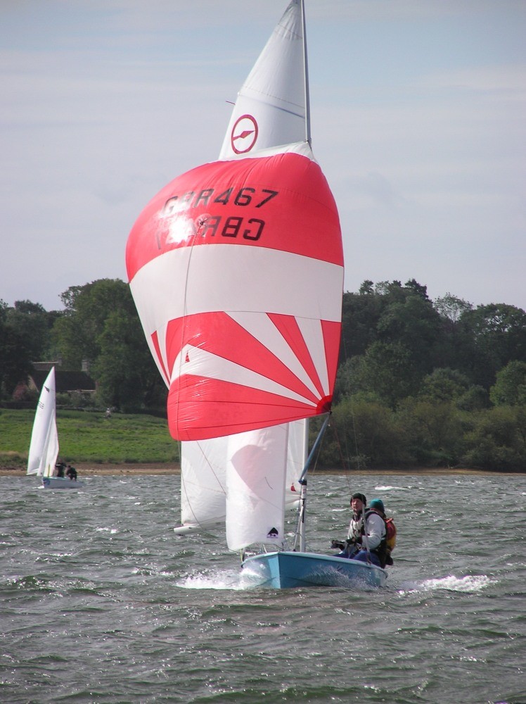
<svg viewBox="0 0 526 704">
<path fill-rule="evenodd" d="M 72 398 L 124 411 L 153 410 L 165 403 L 166 386 L 150 355 L 128 284 L 98 279 L 60 295 L 64 310 L 46 311 L 39 303 L 0 301 L 0 394 L 23 401 L 33 362 L 61 360 L 63 370 L 83 363 L 97 386 L 95 398 Z M 58 402 L 68 403 L 67 398 Z"/>
</svg>

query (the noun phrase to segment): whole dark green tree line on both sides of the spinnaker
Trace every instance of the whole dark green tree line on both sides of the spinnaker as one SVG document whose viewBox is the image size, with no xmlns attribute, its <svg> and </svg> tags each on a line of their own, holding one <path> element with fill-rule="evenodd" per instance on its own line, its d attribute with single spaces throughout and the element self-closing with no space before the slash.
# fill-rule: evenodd
<svg viewBox="0 0 526 704">
<path fill-rule="evenodd" d="M 0 301 L 1 401 L 32 399 L 32 363 L 61 358 L 67 370 L 89 362 L 99 406 L 164 412 L 166 386 L 128 285 L 99 279 L 60 298 L 60 311 Z M 525 311 L 473 306 L 451 294 L 431 301 L 415 279 L 364 281 L 359 291 L 347 291 L 319 466 L 342 463 L 525 471 Z"/>
</svg>

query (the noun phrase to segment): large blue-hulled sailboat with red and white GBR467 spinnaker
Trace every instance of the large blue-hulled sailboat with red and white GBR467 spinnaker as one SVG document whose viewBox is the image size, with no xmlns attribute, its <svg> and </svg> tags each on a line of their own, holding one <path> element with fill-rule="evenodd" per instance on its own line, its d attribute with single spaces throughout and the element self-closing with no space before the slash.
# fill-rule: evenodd
<svg viewBox="0 0 526 704">
<path fill-rule="evenodd" d="M 224 525 L 262 586 L 383 586 L 380 567 L 305 549 L 307 470 L 338 366 L 343 253 L 311 148 L 302 0 L 290 2 L 240 89 L 218 161 L 154 196 L 131 229 L 126 264 L 181 441 L 176 532 Z M 324 420 L 307 454 L 314 417 Z"/>
</svg>

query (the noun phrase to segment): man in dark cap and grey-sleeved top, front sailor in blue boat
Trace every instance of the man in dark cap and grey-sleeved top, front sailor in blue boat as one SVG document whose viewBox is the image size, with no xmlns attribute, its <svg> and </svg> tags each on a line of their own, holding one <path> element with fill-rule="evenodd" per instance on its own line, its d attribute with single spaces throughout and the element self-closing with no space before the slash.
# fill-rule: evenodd
<svg viewBox="0 0 526 704">
<path fill-rule="evenodd" d="M 367 510 L 367 499 L 357 492 L 351 498 L 352 518 L 347 534 L 347 544 L 333 541 L 333 548 L 342 551 L 338 558 L 350 558 L 360 562 L 372 562 L 385 566 L 386 529 L 383 518 L 376 510 Z"/>
</svg>

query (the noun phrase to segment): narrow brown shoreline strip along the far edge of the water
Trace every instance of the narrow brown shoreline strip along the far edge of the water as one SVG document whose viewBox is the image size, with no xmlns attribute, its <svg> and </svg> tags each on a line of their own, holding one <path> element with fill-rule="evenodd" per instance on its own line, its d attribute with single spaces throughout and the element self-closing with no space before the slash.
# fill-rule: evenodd
<svg viewBox="0 0 526 704">
<path fill-rule="evenodd" d="M 141 476 L 155 476 L 155 475 L 177 475 L 181 474 L 181 467 L 177 465 L 163 465 L 158 463 L 137 463 L 137 464 L 94 464 L 94 463 L 75 463 L 79 477 L 105 477 L 105 476 L 119 476 L 119 475 L 135 475 Z M 421 467 L 418 469 L 404 469 L 404 470 L 314 470 L 311 474 L 361 474 L 373 477 L 375 474 L 392 474 L 402 475 L 402 474 L 421 474 L 422 476 L 428 475 L 439 475 L 439 474 L 450 474 L 455 476 L 458 474 L 470 474 L 475 476 L 477 474 L 525 474 L 525 472 L 490 472 L 488 470 L 471 470 L 467 467 L 458 467 L 454 469 L 447 469 L 444 467 Z M 26 470 L 22 467 L 0 467 L 0 477 L 25 477 Z"/>
</svg>

